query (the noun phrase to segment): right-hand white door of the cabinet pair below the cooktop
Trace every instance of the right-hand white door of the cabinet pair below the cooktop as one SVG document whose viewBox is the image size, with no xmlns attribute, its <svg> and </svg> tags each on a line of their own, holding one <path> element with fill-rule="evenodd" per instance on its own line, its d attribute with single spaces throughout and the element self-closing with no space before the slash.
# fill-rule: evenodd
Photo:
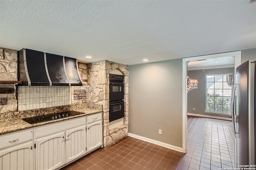
<svg viewBox="0 0 256 170">
<path fill-rule="evenodd" d="M 70 162 L 86 154 L 86 126 L 66 131 L 66 159 Z"/>
</svg>

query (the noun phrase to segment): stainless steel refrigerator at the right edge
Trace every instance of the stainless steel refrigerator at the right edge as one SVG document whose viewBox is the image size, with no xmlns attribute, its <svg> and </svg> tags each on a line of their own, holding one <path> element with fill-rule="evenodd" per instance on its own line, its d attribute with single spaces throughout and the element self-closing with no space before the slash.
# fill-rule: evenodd
<svg viewBox="0 0 256 170">
<path fill-rule="evenodd" d="M 233 125 L 235 134 L 235 167 L 255 165 L 256 61 L 246 61 L 236 68 L 233 90 Z M 254 168 L 254 167 L 251 167 Z"/>
</svg>

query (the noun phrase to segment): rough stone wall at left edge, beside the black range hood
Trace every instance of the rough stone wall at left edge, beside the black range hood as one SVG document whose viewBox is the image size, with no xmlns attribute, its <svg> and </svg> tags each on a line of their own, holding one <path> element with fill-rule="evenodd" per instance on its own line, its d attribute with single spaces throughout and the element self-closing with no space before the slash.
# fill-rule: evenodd
<svg viewBox="0 0 256 170">
<path fill-rule="evenodd" d="M 18 80 L 18 54 L 16 50 L 0 47 L 0 81 Z M 2 84 L 2 88 L 15 88 L 14 84 Z M 6 94 L 0 94 L 0 97 L 6 97 Z M 7 105 L 0 105 L 0 113 L 17 111 L 18 100 L 14 94 L 8 94 Z"/>
</svg>

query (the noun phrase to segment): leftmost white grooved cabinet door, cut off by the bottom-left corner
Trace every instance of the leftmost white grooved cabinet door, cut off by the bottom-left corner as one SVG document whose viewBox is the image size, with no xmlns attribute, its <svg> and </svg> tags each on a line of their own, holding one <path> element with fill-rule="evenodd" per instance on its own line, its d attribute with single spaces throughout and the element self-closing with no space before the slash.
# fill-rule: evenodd
<svg viewBox="0 0 256 170">
<path fill-rule="evenodd" d="M 0 170 L 32 170 L 33 142 L 0 150 Z"/>
</svg>

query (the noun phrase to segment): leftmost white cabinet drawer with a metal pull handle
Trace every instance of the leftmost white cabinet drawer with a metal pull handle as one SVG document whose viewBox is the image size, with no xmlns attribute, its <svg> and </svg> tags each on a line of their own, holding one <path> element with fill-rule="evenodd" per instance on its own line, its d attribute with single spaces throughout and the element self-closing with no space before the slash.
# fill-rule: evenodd
<svg viewBox="0 0 256 170">
<path fill-rule="evenodd" d="M 0 137 L 0 149 L 33 139 L 33 130 Z"/>
</svg>

